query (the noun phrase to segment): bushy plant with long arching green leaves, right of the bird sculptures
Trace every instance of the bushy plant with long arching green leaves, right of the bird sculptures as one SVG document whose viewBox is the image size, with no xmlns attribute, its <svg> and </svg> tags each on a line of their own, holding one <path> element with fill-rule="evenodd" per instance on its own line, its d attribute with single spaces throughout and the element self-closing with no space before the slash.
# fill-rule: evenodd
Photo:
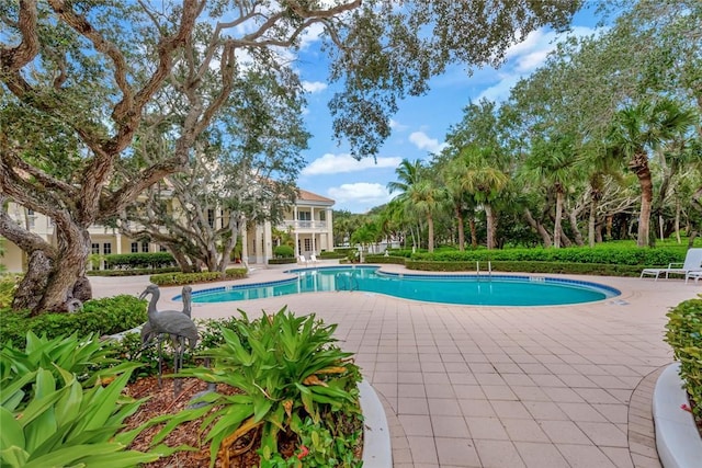
<svg viewBox="0 0 702 468">
<path fill-rule="evenodd" d="M 220 328 L 223 344 L 203 353 L 213 359 L 212 368 L 189 368 L 181 373 L 241 391 L 235 396 L 203 397 L 203 401 L 214 404 L 214 409 L 205 408 L 208 415 L 202 424 L 208 431 L 205 440 L 211 443 L 211 466 L 223 444 L 229 446 L 256 427 L 261 431 L 261 466 L 288 466 L 280 465 L 284 460 L 280 457 L 279 433 L 292 432 L 298 441 L 312 437 L 319 442 L 320 436 L 325 441 L 337 435 L 343 438 L 340 432 L 346 431 L 358 440 L 361 374 L 349 361 L 351 354 L 333 344 L 336 326 L 325 326 L 314 315 L 295 317 L 285 308 L 253 321 L 240 312 L 242 318 L 230 322 L 234 329 Z M 171 416 L 166 430 L 202 414 L 204 411 L 197 409 L 188 410 L 176 420 Z M 351 430 L 341 421 L 350 424 Z M 317 430 L 318 424 L 324 424 L 328 432 Z M 159 435 L 155 442 L 160 440 Z M 349 452 L 352 453 L 341 443 L 325 445 L 322 452 L 313 453 L 318 445 L 310 444 L 308 456 L 315 463 L 305 466 L 337 466 L 338 460 L 348 459 Z M 360 466 L 360 460 L 343 466 Z"/>
</svg>

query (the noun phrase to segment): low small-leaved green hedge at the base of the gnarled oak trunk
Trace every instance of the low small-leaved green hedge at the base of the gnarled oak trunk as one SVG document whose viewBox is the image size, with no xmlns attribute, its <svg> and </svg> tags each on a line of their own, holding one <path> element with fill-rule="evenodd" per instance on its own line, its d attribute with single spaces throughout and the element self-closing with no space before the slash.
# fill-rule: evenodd
<svg viewBox="0 0 702 468">
<path fill-rule="evenodd" d="M 0 342 L 24 346 L 27 331 L 56 338 L 67 331 L 79 336 L 114 334 L 138 327 L 147 320 L 144 300 L 128 295 L 92 299 L 73 313 L 42 313 L 30 317 L 27 310 L 0 310 Z"/>
</svg>

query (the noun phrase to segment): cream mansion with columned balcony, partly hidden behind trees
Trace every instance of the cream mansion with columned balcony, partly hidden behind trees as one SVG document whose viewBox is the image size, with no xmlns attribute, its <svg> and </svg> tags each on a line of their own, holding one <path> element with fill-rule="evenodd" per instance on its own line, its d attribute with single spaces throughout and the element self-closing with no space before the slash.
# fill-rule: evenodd
<svg viewBox="0 0 702 468">
<path fill-rule="evenodd" d="M 295 255 L 319 254 L 324 250 L 333 250 L 332 206 L 333 199 L 301 190 L 298 197 L 284 216 L 283 222 L 276 228 L 290 232 L 295 239 Z M 47 242 L 56 244 L 53 221 L 31 209 L 10 203 L 9 215 L 20 225 L 41 236 Z M 93 225 L 89 229 L 92 241 L 92 253 L 136 253 L 159 252 L 162 249 L 156 243 L 137 242 L 122 235 L 117 229 Z M 247 226 L 241 233 L 241 256 L 249 264 L 267 264 L 273 258 L 273 249 L 276 247 L 273 240 L 273 229 L 270 221 Z M 0 256 L 0 263 L 8 272 L 22 272 L 26 270 L 26 254 L 14 243 L 3 238 L 4 255 Z"/>
</svg>

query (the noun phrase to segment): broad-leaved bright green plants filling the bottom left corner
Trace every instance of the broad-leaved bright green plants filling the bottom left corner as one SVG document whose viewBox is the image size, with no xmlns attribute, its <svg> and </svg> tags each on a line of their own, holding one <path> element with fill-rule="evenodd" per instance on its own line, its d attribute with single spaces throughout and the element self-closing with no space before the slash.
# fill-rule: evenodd
<svg viewBox="0 0 702 468">
<path fill-rule="evenodd" d="M 93 375 L 81 384 L 79 376 L 106 358 L 100 343 L 90 338 L 78 340 L 76 335 L 45 340 L 32 334 L 26 342 L 24 351 L 11 345 L 2 350 L 2 467 L 121 468 L 154 461 L 173 452 L 168 447 L 156 447 L 146 454 L 125 450 L 146 426 L 120 432 L 125 419 L 143 401 L 123 395 L 134 364 L 121 366 L 111 374 L 116 377 L 110 383 L 99 381 L 99 376 Z"/>
</svg>

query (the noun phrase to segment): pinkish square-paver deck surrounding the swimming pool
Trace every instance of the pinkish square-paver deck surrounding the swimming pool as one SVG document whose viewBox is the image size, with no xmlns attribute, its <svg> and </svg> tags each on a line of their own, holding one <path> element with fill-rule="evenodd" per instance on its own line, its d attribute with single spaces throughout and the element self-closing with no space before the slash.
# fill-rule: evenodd
<svg viewBox="0 0 702 468">
<path fill-rule="evenodd" d="M 295 267 L 251 266 L 236 284 L 281 279 Z M 650 395 L 661 366 L 672 362 L 663 341 L 666 312 L 701 294 L 701 285 L 563 277 L 622 295 L 574 306 L 482 307 L 314 293 L 194 304 L 193 317 L 237 316 L 237 309 L 254 316 L 287 305 L 338 323 L 339 345 L 355 353 L 383 401 L 396 468 L 660 467 Z M 95 297 L 138 295 L 148 277 L 91 283 Z M 158 309 L 180 310 L 172 300 L 179 294 L 162 288 Z"/>
</svg>

